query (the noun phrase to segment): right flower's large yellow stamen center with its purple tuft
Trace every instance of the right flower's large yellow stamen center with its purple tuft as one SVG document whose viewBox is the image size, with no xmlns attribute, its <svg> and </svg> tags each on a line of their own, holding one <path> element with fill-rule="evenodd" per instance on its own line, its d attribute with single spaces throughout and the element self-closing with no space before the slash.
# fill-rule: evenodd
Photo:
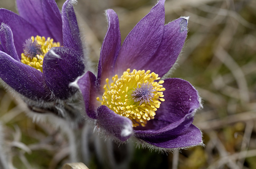
<svg viewBox="0 0 256 169">
<path fill-rule="evenodd" d="M 130 73 L 127 69 L 120 78 L 118 75 L 112 77 L 110 85 L 106 79 L 102 100 L 96 99 L 115 113 L 130 118 L 133 127 L 145 126 L 148 120 L 154 119 L 160 101 L 164 101 L 165 88 L 161 85 L 164 81 L 155 82 L 159 79 L 158 74 L 150 70 L 134 69 Z"/>
</svg>

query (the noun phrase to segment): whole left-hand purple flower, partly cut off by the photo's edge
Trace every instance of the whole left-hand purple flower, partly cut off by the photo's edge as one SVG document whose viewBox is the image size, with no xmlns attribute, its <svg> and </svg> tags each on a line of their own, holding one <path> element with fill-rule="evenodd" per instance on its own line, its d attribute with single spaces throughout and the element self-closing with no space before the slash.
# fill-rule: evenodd
<svg viewBox="0 0 256 169">
<path fill-rule="evenodd" d="M 84 73 L 73 0 L 16 0 L 19 15 L 0 9 L 0 78 L 32 100 L 67 99 Z"/>
</svg>

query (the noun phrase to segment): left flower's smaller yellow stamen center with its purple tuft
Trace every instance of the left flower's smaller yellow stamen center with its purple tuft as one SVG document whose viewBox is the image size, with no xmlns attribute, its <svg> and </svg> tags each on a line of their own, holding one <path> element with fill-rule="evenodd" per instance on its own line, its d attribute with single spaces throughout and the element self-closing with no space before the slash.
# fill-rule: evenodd
<svg viewBox="0 0 256 169">
<path fill-rule="evenodd" d="M 44 36 L 32 36 L 23 44 L 24 53 L 21 54 L 21 62 L 43 72 L 43 60 L 45 54 L 52 47 L 60 47 L 60 42 L 53 42 L 53 39 Z"/>
</svg>

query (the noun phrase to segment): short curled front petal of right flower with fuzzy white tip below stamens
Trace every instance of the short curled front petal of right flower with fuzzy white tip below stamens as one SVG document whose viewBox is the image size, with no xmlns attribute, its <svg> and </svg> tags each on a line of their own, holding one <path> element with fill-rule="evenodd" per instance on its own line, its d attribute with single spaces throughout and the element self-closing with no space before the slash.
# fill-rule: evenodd
<svg viewBox="0 0 256 169">
<path fill-rule="evenodd" d="M 126 141 L 133 134 L 132 121 L 129 118 L 114 113 L 107 106 L 100 106 L 98 112 L 98 125 L 113 134 L 121 141 Z"/>
</svg>

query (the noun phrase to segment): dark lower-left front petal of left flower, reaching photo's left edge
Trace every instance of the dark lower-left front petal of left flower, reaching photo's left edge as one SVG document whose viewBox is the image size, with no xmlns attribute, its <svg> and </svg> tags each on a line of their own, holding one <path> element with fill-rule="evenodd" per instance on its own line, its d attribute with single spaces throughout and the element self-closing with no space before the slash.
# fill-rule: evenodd
<svg viewBox="0 0 256 169">
<path fill-rule="evenodd" d="M 0 78 L 20 94 L 32 100 L 50 98 L 42 72 L 16 61 L 0 51 Z"/>
</svg>

